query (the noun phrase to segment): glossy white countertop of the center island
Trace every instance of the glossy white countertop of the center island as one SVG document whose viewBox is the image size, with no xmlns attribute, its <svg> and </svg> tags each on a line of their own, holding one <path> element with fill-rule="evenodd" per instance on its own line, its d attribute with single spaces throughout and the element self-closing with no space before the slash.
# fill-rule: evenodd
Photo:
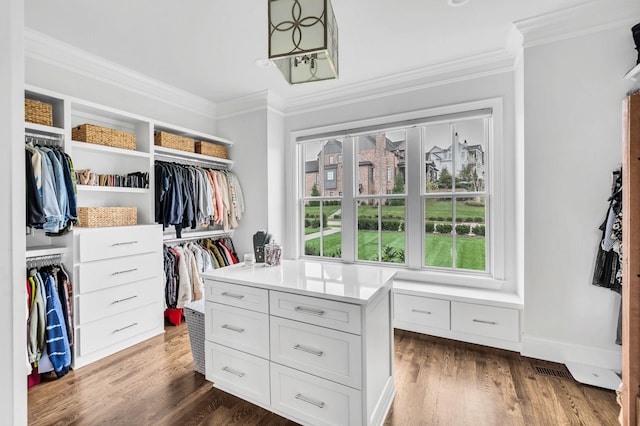
<svg viewBox="0 0 640 426">
<path fill-rule="evenodd" d="M 244 263 L 201 274 L 205 279 L 366 305 L 391 288 L 395 272 L 376 266 L 282 260 L 277 266 Z"/>
</svg>

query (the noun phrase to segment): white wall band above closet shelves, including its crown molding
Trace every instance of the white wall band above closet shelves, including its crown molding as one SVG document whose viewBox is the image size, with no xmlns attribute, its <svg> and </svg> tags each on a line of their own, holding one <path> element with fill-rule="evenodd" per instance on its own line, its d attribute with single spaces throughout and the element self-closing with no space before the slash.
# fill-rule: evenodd
<svg viewBox="0 0 640 426">
<path fill-rule="evenodd" d="M 215 104 L 26 29 L 26 83 L 146 118 L 216 134 Z"/>
</svg>

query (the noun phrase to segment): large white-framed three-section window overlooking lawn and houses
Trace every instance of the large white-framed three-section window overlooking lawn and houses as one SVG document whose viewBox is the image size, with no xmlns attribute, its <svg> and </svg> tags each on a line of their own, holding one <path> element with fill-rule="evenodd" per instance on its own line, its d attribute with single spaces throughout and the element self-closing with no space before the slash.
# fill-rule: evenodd
<svg viewBox="0 0 640 426">
<path fill-rule="evenodd" d="M 503 221 L 489 215 L 502 205 L 491 182 L 493 126 L 484 108 L 349 129 L 339 164 L 325 166 L 325 195 L 300 197 L 304 255 L 493 276 L 490 254 L 501 252 L 492 235 L 503 235 Z M 309 161 L 336 141 L 310 137 L 299 147 Z"/>
</svg>

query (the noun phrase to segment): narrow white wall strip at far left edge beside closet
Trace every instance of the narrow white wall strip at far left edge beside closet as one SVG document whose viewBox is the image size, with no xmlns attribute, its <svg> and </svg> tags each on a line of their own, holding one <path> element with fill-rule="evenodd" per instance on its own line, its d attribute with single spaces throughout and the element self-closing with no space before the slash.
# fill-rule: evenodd
<svg viewBox="0 0 640 426">
<path fill-rule="evenodd" d="M 24 2 L 0 2 L 0 413 L 2 423 L 27 424 L 25 346 Z"/>
</svg>

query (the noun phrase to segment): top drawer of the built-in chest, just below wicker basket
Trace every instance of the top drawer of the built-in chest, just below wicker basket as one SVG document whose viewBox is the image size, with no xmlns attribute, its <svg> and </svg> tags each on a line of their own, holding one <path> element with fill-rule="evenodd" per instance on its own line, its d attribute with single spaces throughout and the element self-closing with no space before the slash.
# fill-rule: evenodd
<svg viewBox="0 0 640 426">
<path fill-rule="evenodd" d="M 162 248 L 162 227 L 153 225 L 80 229 L 78 246 L 80 262 L 159 251 Z"/>
</svg>

